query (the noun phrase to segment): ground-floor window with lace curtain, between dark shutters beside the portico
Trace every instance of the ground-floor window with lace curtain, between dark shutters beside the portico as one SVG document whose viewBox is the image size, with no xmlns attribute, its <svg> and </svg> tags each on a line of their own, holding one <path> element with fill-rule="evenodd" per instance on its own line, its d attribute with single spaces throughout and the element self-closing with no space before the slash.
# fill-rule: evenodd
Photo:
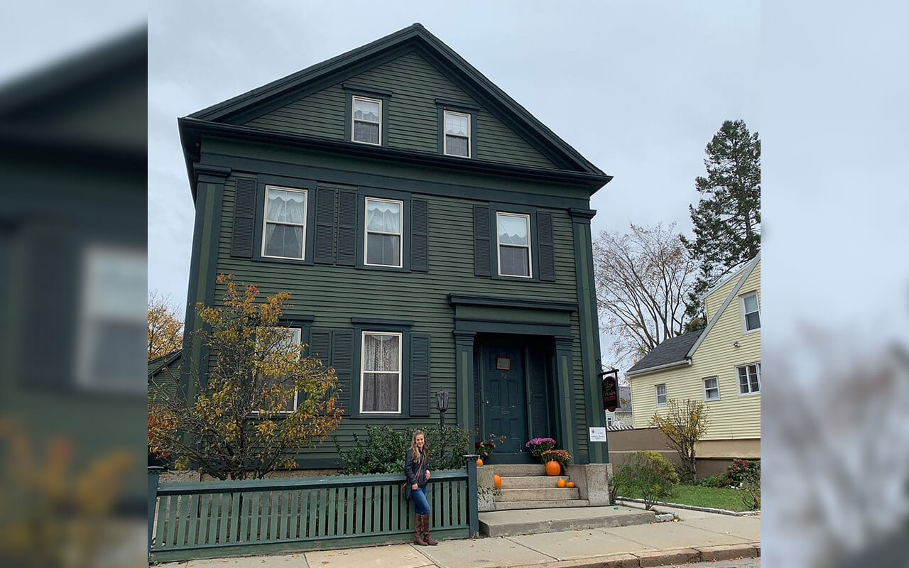
<svg viewBox="0 0 909 568">
<path fill-rule="evenodd" d="M 402 334 L 363 332 L 360 412 L 401 413 Z"/>
</svg>

